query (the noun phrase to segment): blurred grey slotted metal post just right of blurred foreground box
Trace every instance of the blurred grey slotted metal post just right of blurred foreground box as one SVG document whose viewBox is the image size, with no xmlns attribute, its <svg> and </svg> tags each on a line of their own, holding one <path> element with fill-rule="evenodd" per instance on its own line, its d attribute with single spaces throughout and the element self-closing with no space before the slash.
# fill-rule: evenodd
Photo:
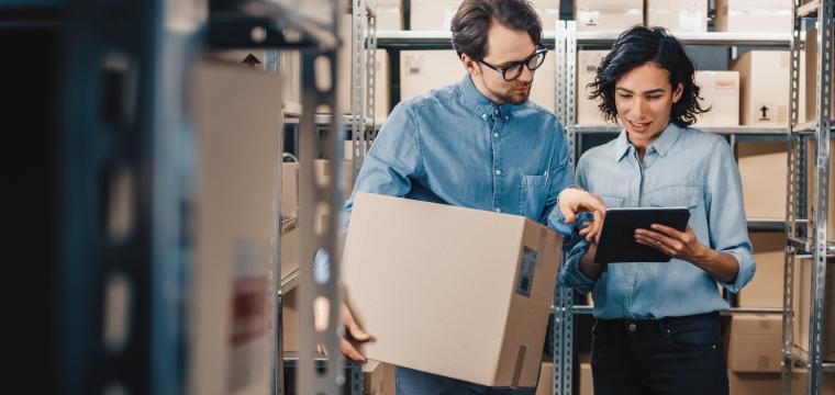
<svg viewBox="0 0 835 395">
<path fill-rule="evenodd" d="M 331 29 L 337 36 L 342 8 L 330 2 Z M 339 260 L 337 232 L 341 228 L 343 194 L 339 191 L 343 171 L 338 159 L 342 139 L 342 117 L 336 97 L 338 45 L 318 47 L 302 53 L 302 116 L 300 121 L 300 198 L 299 198 L 299 369 L 300 394 L 337 394 L 345 384 L 339 351 L 342 319 L 339 315 Z M 330 82 L 330 84 L 327 83 Z M 316 139 L 316 110 L 326 108 L 331 114 L 330 131 Z M 330 182 L 316 179 L 313 169 L 318 153 L 329 161 Z M 322 176 L 322 174 L 320 174 Z M 311 330 L 311 327 L 313 330 Z M 316 346 L 327 350 L 330 358 L 321 366 L 315 361 Z M 321 369 L 320 369 L 321 368 Z"/>
</svg>

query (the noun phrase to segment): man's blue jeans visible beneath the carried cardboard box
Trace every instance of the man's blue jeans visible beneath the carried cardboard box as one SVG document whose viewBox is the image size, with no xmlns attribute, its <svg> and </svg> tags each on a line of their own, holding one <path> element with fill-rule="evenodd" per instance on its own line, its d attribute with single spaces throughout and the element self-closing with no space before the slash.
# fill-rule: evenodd
<svg viewBox="0 0 835 395">
<path fill-rule="evenodd" d="M 493 388 L 407 368 L 396 371 L 398 395 L 534 395 L 536 388 Z"/>
</svg>

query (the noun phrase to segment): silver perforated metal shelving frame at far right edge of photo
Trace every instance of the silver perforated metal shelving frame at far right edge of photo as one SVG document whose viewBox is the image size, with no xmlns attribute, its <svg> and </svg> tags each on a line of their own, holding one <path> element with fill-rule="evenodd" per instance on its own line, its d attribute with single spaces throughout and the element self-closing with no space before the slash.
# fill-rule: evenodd
<svg viewBox="0 0 835 395">
<path fill-rule="evenodd" d="M 820 394 L 822 390 L 823 372 L 835 371 L 834 362 L 824 362 L 822 359 L 824 340 L 824 315 L 826 304 L 832 301 L 825 300 L 827 258 L 835 255 L 835 247 L 827 242 L 827 213 L 828 183 L 830 183 L 830 138 L 832 137 L 835 114 L 831 113 L 831 92 L 833 86 L 833 18 L 835 16 L 835 2 L 832 0 L 814 0 L 802 4 L 801 0 L 793 2 L 793 30 L 791 46 L 791 125 L 789 127 L 789 155 L 787 174 L 787 206 L 786 217 L 789 240 L 786 247 L 786 267 L 783 283 L 783 319 L 782 319 L 782 394 L 791 393 L 792 369 L 800 364 L 809 370 L 808 394 Z M 817 120 L 814 122 L 800 123 L 798 119 L 799 81 L 800 81 L 800 37 L 804 25 L 810 20 L 816 21 L 817 27 L 817 68 L 816 83 L 816 109 Z M 808 60 L 811 61 L 811 60 Z M 804 173 L 802 166 L 805 155 L 804 145 L 810 139 L 816 142 L 815 159 L 815 190 L 808 191 L 804 180 L 810 174 Z M 806 193 L 814 194 L 814 213 L 812 217 L 804 212 Z M 811 226 L 810 226 L 811 225 Z M 811 235 L 809 235 L 811 233 Z M 794 329 L 794 264 L 800 255 L 812 256 L 812 293 L 810 303 L 810 336 L 809 352 L 795 347 L 793 339 Z M 832 330 L 833 328 L 830 328 Z"/>
</svg>

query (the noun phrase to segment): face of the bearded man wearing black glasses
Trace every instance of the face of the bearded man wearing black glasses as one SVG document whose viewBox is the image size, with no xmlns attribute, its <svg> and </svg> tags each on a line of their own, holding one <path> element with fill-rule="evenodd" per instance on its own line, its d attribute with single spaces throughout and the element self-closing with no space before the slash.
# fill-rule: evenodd
<svg viewBox="0 0 835 395">
<path fill-rule="evenodd" d="M 483 60 L 500 69 L 527 59 L 536 52 L 536 45 L 524 30 L 511 30 L 498 22 L 487 32 L 487 54 Z M 513 81 L 505 81 L 500 71 L 493 70 L 465 56 L 465 66 L 476 87 L 497 104 L 521 104 L 531 94 L 534 70 L 522 67 L 522 74 Z M 509 71 L 510 75 L 510 71 Z"/>
</svg>

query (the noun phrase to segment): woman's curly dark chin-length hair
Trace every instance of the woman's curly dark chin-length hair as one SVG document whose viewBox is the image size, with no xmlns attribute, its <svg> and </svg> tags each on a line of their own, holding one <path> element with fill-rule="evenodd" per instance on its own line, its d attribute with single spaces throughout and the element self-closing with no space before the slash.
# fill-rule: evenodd
<svg viewBox="0 0 835 395">
<path fill-rule="evenodd" d="M 671 122 L 679 126 L 692 125 L 698 114 L 710 111 L 710 108 L 702 109 L 699 103 L 700 89 L 693 81 L 695 67 L 681 43 L 664 27 L 635 26 L 617 36 L 612 50 L 598 67 L 594 81 L 588 86 L 591 88 L 589 99 L 602 99 L 599 108 L 606 121 L 615 122 L 617 119 L 614 102 L 617 80 L 648 63 L 667 70 L 673 90 L 679 83 L 683 88 L 681 99 L 672 104 Z"/>
</svg>

